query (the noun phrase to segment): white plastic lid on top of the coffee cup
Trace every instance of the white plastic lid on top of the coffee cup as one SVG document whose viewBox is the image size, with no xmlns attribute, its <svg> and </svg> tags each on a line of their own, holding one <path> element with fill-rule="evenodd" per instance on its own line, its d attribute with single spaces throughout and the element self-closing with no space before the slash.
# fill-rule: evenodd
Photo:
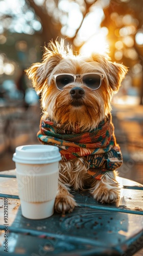
<svg viewBox="0 0 143 256">
<path fill-rule="evenodd" d="M 57 146 L 24 145 L 16 147 L 12 160 L 16 163 L 45 164 L 61 160 Z"/>
</svg>

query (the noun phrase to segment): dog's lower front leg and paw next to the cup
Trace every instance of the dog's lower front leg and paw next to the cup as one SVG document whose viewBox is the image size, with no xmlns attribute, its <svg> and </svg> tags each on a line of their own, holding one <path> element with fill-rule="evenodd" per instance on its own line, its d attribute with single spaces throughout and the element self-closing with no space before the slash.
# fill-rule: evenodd
<svg viewBox="0 0 143 256">
<path fill-rule="evenodd" d="M 65 214 L 65 212 L 73 211 L 75 206 L 77 206 L 77 203 L 74 200 L 73 195 L 69 193 L 68 188 L 63 184 L 59 184 L 55 201 L 55 210 Z"/>
</svg>

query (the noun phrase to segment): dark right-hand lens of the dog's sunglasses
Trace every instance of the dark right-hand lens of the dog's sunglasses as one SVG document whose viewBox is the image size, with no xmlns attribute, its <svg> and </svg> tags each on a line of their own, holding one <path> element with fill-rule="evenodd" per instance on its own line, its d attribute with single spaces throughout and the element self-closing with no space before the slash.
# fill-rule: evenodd
<svg viewBox="0 0 143 256">
<path fill-rule="evenodd" d="M 98 74 L 88 74 L 83 76 L 82 81 L 90 89 L 96 90 L 100 87 L 101 77 Z"/>
</svg>

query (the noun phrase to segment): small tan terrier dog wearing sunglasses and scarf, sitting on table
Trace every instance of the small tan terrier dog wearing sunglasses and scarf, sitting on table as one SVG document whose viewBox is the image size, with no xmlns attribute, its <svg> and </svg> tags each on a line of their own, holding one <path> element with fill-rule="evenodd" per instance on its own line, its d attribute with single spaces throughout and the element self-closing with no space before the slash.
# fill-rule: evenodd
<svg viewBox="0 0 143 256">
<path fill-rule="evenodd" d="M 43 116 L 38 139 L 56 145 L 62 156 L 55 201 L 57 212 L 77 205 L 70 187 L 86 189 L 101 203 L 120 196 L 115 169 L 122 164 L 111 119 L 111 99 L 127 68 L 108 55 L 74 55 L 62 39 L 44 47 L 41 63 L 26 73 L 41 95 Z"/>
</svg>

